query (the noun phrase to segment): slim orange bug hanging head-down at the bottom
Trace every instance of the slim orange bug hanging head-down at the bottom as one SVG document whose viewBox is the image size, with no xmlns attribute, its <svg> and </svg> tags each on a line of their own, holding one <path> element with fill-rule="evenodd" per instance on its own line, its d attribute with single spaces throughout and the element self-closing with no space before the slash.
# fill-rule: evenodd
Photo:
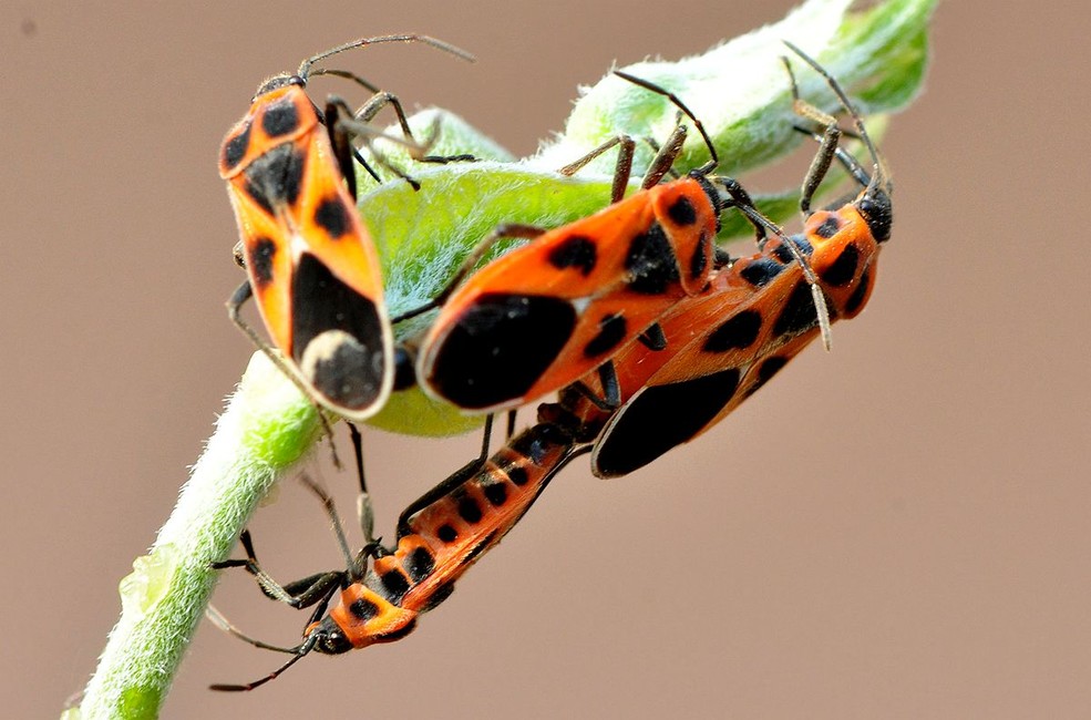
<svg viewBox="0 0 1091 720">
<path fill-rule="evenodd" d="M 310 652 L 341 655 L 356 648 L 393 642 L 416 627 L 418 618 L 454 590 L 454 583 L 494 547 L 519 521 L 549 481 L 574 457 L 587 452 L 565 428 L 539 423 L 513 438 L 487 462 L 474 460 L 400 516 L 392 549 L 371 538 L 370 503 L 361 503 L 361 524 L 368 542 L 352 554 L 344 541 L 332 500 L 313 483 L 323 500 L 347 558 L 347 568 L 318 573 L 279 585 L 258 564 L 249 533 L 241 536 L 246 559 L 213 565 L 244 567 L 256 576 L 270 598 L 295 608 L 315 606 L 303 640 L 290 648 L 255 640 L 209 608 L 222 629 L 264 649 L 292 657 L 269 675 L 244 685 L 214 685 L 222 691 L 253 690 L 275 679 Z M 367 496 L 360 475 L 362 496 Z M 370 566 L 369 566 L 370 564 Z M 330 603 L 332 609 L 327 613 Z"/>
</svg>

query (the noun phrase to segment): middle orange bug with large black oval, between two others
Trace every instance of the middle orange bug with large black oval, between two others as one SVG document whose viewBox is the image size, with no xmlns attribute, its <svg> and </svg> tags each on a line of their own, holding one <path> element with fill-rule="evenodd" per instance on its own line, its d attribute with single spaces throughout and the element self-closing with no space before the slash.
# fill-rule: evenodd
<svg viewBox="0 0 1091 720">
<path fill-rule="evenodd" d="M 681 152 L 686 127 L 676 126 L 641 183 L 622 199 L 634 141 L 619 136 L 564 168 L 574 168 L 619 145 L 611 204 L 563 227 L 504 225 L 478 246 L 431 306 L 442 306 L 420 341 L 416 374 L 432 395 L 460 408 L 492 412 L 533 401 L 577 381 L 588 371 L 603 378 L 604 409 L 619 402 L 610 359 L 634 342 L 661 348 L 656 320 L 683 298 L 707 291 L 727 264 L 716 247 L 720 215 L 744 212 L 764 238 L 753 203 L 730 177 L 710 173 L 716 148 L 700 121 L 675 95 L 617 71 L 622 79 L 667 96 L 693 122 L 711 160 L 687 176 L 660 184 Z M 722 188 L 722 189 L 721 189 Z M 484 251 L 503 237 L 531 240 L 459 282 Z M 797 258 L 803 267 L 805 260 Z M 806 270 L 810 272 L 810 270 Z M 809 275 L 812 285 L 816 282 Z M 821 294 L 817 312 L 824 318 Z M 415 312 L 415 311 L 414 311 Z"/>
</svg>

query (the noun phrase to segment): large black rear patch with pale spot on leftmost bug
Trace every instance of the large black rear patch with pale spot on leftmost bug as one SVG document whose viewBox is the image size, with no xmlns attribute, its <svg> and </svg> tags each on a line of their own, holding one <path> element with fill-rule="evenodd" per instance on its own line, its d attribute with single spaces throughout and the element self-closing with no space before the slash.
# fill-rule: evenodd
<svg viewBox="0 0 1091 720">
<path fill-rule="evenodd" d="M 336 352 L 319 360 L 310 379 L 315 388 L 346 408 L 373 403 L 387 366 L 375 304 L 341 282 L 309 253 L 299 258 L 291 298 L 291 354 L 297 362 L 307 346 L 329 330 L 341 330 L 356 340 L 340 343 Z"/>
</svg>

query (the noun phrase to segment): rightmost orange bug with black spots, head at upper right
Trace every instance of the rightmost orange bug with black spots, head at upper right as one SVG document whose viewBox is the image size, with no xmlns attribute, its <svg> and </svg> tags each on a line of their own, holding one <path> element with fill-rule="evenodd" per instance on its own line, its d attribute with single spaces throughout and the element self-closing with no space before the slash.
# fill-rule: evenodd
<svg viewBox="0 0 1091 720">
<path fill-rule="evenodd" d="M 834 91 L 853 120 L 854 134 L 871 155 L 873 169 L 866 172 L 840 147 L 843 131 L 833 116 L 800 99 L 791 64 L 784 59 L 796 113 L 822 126 L 821 133 L 800 127 L 821 143 L 803 182 L 803 233 L 785 237 L 775 229 L 778 237 L 760 254 L 735 260 L 713 279 L 704 297 L 680 305 L 660 322 L 675 351 L 606 423 L 591 456 L 593 471 L 599 476 L 632 472 L 700 435 L 817 337 L 812 294 L 788 245 L 807 258 L 832 320 L 856 317 L 871 297 L 876 259 L 891 237 L 889 174 L 841 84 L 799 48 L 785 44 Z M 812 212 L 812 196 L 835 158 L 862 189 L 843 205 Z M 617 363 L 639 360 L 622 353 Z"/>
</svg>

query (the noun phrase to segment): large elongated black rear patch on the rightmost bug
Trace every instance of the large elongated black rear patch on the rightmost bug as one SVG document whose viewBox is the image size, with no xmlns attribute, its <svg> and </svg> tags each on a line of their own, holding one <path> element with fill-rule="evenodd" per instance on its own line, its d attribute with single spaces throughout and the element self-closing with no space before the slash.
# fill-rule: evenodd
<svg viewBox="0 0 1091 720">
<path fill-rule="evenodd" d="M 625 475 L 691 440 L 731 401 L 739 379 L 739 369 L 731 368 L 647 388 L 620 410 L 599 441 L 596 472 Z"/>
</svg>

